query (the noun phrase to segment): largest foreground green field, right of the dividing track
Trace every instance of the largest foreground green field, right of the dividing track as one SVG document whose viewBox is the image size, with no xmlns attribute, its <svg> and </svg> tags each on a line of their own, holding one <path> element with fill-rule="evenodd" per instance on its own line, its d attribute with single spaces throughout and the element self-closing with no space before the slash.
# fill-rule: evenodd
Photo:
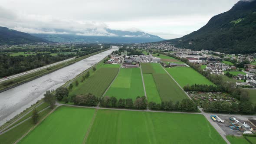
<svg viewBox="0 0 256 144">
<path fill-rule="evenodd" d="M 98 110 L 86 144 L 226 144 L 203 115 Z"/>
</svg>

